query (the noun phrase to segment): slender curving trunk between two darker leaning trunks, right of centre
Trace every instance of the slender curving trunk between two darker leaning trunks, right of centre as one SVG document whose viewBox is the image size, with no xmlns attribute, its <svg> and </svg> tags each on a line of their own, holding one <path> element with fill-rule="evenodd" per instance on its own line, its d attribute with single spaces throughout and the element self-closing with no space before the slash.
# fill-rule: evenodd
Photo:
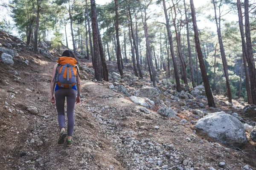
<svg viewBox="0 0 256 170">
<path fill-rule="evenodd" d="M 182 67 L 183 80 L 184 80 L 184 83 L 187 85 L 188 81 L 187 81 L 187 78 L 186 78 L 186 64 L 185 64 L 185 61 L 183 59 L 183 56 L 182 56 L 181 50 L 180 50 L 180 35 L 178 34 L 178 30 L 177 30 L 177 26 L 176 26 L 176 16 L 177 16 L 177 14 L 176 14 L 176 8 L 175 8 L 175 4 L 173 3 L 173 0 L 172 0 L 172 4 L 173 4 L 174 13 L 175 13 L 175 17 L 172 18 L 172 20 L 173 20 L 173 25 L 174 25 L 175 34 L 176 34 L 177 50 L 178 50 L 180 63 L 181 63 L 181 67 Z"/>
</svg>

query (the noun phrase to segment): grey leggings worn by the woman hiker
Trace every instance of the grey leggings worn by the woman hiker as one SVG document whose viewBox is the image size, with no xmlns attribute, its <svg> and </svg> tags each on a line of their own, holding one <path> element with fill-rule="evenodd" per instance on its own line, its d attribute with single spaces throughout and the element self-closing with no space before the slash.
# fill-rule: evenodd
<svg viewBox="0 0 256 170">
<path fill-rule="evenodd" d="M 76 90 L 72 88 L 62 88 L 55 91 L 55 102 L 58 112 L 58 123 L 61 127 L 65 126 L 65 99 L 67 97 L 67 135 L 72 136 L 75 125 L 74 108 L 76 103 Z"/>
</svg>

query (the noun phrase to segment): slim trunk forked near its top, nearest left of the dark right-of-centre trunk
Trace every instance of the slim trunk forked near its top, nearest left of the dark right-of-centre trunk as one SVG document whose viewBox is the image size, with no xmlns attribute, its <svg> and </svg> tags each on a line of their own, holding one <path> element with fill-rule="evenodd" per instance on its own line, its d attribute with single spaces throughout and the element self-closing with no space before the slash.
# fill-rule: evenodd
<svg viewBox="0 0 256 170">
<path fill-rule="evenodd" d="M 140 0 L 138 0 L 138 1 L 139 1 L 139 4 L 140 4 Z M 141 8 L 141 5 L 140 5 L 140 8 Z M 154 87 L 156 87 L 156 71 L 155 71 L 154 64 L 153 64 L 151 48 L 150 48 L 149 38 L 148 38 L 146 8 L 144 7 L 144 19 L 143 19 L 142 9 L 141 9 L 140 12 L 141 12 L 142 23 L 143 23 L 143 26 L 144 26 L 144 33 L 145 33 L 145 38 L 146 38 L 146 48 L 147 48 L 147 52 L 148 52 L 148 60 L 149 60 L 150 67 L 151 67 L 151 72 L 152 72 L 152 82 L 153 82 Z M 138 62 L 138 59 L 137 59 L 137 62 Z"/>
</svg>

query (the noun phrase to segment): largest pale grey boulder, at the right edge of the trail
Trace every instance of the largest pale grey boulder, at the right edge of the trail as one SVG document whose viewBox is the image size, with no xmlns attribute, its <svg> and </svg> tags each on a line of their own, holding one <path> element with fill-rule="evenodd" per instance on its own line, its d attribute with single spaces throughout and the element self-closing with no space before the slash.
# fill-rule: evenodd
<svg viewBox="0 0 256 170">
<path fill-rule="evenodd" d="M 241 147 L 247 142 L 244 125 L 239 119 L 223 111 L 204 116 L 195 127 L 230 147 Z"/>
</svg>

